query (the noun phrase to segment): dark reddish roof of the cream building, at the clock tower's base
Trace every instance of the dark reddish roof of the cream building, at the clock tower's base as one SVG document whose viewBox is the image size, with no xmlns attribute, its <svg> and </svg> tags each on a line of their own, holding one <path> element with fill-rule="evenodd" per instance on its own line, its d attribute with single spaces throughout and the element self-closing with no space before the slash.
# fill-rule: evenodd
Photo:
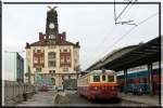
<svg viewBox="0 0 163 108">
<path fill-rule="evenodd" d="M 64 41 L 64 42 L 60 42 L 59 44 L 57 44 L 55 40 L 54 39 L 49 39 L 49 40 L 43 40 L 43 41 L 37 41 L 37 42 L 34 42 L 34 43 L 26 43 L 26 46 L 25 49 L 29 49 L 30 46 L 45 46 L 45 45 L 73 45 L 75 48 L 80 48 L 78 42 L 73 43 L 73 42 L 70 42 L 70 41 Z"/>
</svg>

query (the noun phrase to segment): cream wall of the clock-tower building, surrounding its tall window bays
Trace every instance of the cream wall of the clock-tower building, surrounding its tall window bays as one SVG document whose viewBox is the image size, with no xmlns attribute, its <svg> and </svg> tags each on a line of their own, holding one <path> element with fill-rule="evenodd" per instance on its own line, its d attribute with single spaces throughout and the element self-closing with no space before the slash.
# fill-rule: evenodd
<svg viewBox="0 0 163 108">
<path fill-rule="evenodd" d="M 55 75 L 53 76 L 53 78 L 55 79 L 55 85 L 62 85 L 63 79 L 62 77 L 64 77 L 64 79 L 68 79 L 71 77 L 71 79 L 77 79 L 76 76 L 76 68 L 79 66 L 79 49 L 78 48 L 74 48 L 73 45 L 53 45 L 53 46 L 30 46 L 30 49 L 26 49 L 26 62 L 27 62 L 27 71 L 28 70 L 28 66 L 30 69 L 30 83 L 35 83 L 35 71 L 36 68 L 34 68 L 33 66 L 33 52 L 35 49 L 39 49 L 39 50 L 45 50 L 45 67 L 41 69 L 41 72 L 39 73 L 49 73 L 49 70 L 55 70 Z M 67 49 L 71 50 L 71 60 L 72 60 L 72 65 L 71 67 L 68 67 L 68 71 L 63 71 L 64 67 L 60 67 L 60 50 L 63 49 Z M 55 67 L 53 68 L 49 68 L 48 67 L 48 53 L 49 52 L 55 52 L 55 58 L 57 58 L 57 63 L 55 63 Z"/>
</svg>

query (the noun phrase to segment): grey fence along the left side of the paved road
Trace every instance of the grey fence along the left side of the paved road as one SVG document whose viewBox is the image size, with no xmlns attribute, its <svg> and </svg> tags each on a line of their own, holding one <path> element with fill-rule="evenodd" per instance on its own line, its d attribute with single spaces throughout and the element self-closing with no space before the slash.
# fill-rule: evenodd
<svg viewBox="0 0 163 108">
<path fill-rule="evenodd" d="M 34 93 L 35 86 L 28 83 L 17 83 L 14 81 L 4 81 L 4 105 L 10 105 L 10 102 L 23 100 L 23 93 Z"/>
</svg>

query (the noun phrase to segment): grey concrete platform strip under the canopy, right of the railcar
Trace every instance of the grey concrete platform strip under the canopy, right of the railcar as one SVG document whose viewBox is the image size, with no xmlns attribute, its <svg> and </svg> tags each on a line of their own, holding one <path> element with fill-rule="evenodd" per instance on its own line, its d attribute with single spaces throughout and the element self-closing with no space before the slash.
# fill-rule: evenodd
<svg viewBox="0 0 163 108">
<path fill-rule="evenodd" d="M 146 104 L 149 106 L 160 106 L 159 95 L 133 95 L 131 93 L 118 93 L 118 97 L 124 100 L 129 100 L 139 104 Z"/>
</svg>

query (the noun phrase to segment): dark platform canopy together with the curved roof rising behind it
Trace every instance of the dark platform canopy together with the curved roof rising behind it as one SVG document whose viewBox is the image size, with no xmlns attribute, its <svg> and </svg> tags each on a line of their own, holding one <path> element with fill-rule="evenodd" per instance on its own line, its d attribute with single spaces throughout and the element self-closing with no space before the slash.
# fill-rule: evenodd
<svg viewBox="0 0 163 108">
<path fill-rule="evenodd" d="M 112 55 L 112 56 L 111 56 Z M 115 71 L 161 60 L 161 37 L 156 37 L 147 43 L 127 46 L 108 55 L 89 67 L 90 69 L 112 69 Z"/>
</svg>

